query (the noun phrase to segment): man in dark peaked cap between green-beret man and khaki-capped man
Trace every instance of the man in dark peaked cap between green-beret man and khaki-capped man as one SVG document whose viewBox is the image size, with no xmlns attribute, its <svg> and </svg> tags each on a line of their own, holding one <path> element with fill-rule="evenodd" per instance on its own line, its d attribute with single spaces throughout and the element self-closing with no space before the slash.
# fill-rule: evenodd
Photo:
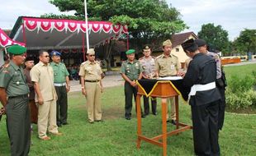
<svg viewBox="0 0 256 156">
<path fill-rule="evenodd" d="M 154 60 L 154 57 L 150 56 L 151 49 L 149 48 L 149 46 L 146 45 L 145 48 L 143 48 L 143 54 L 144 54 L 144 57 L 141 57 L 139 59 L 139 62 L 143 69 L 142 78 L 143 79 L 153 79 L 154 77 L 158 77 L 156 75 L 156 71 L 155 71 L 155 60 Z M 150 99 L 151 99 L 152 113 L 154 115 L 157 115 L 156 98 L 151 97 Z M 149 98 L 144 95 L 143 100 L 144 100 L 145 115 L 149 115 Z"/>
</svg>

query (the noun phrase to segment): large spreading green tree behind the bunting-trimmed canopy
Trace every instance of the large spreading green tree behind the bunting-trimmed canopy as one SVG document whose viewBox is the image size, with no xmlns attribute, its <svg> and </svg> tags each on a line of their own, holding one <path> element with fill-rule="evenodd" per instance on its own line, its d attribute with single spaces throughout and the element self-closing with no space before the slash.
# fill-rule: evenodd
<svg viewBox="0 0 256 156">
<path fill-rule="evenodd" d="M 75 16 L 84 16 L 83 0 L 51 0 L 50 3 L 59 11 L 75 11 Z M 144 44 L 158 48 L 164 39 L 187 28 L 179 11 L 168 7 L 163 0 L 88 0 L 87 5 L 89 20 L 128 25 L 130 47 L 137 50 Z M 111 51 L 112 46 L 109 47 L 106 49 Z"/>
</svg>

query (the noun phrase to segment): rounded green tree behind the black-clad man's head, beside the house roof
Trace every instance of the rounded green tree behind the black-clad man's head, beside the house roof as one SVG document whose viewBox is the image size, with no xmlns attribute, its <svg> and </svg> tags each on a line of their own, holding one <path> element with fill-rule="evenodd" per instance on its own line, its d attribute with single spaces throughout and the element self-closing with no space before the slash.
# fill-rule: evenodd
<svg viewBox="0 0 256 156">
<path fill-rule="evenodd" d="M 198 37 L 206 40 L 211 50 L 219 50 L 223 54 L 229 53 L 228 32 L 223 30 L 220 25 L 215 26 L 213 23 L 201 25 Z"/>
</svg>

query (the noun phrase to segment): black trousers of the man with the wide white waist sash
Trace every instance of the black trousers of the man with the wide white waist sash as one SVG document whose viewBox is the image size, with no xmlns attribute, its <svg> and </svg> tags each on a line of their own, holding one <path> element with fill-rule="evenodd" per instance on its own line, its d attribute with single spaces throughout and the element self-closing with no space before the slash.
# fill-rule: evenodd
<svg viewBox="0 0 256 156">
<path fill-rule="evenodd" d="M 219 100 L 192 105 L 193 141 L 196 155 L 220 155 L 218 141 Z"/>
</svg>

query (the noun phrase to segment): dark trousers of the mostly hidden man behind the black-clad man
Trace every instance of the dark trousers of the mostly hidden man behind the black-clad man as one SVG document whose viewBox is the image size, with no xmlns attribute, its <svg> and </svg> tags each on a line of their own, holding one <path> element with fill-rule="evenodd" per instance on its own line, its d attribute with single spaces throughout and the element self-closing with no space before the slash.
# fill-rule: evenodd
<svg viewBox="0 0 256 156">
<path fill-rule="evenodd" d="M 220 91 L 220 103 L 219 103 L 219 130 L 222 129 L 225 118 L 225 87 L 217 87 Z"/>
</svg>

